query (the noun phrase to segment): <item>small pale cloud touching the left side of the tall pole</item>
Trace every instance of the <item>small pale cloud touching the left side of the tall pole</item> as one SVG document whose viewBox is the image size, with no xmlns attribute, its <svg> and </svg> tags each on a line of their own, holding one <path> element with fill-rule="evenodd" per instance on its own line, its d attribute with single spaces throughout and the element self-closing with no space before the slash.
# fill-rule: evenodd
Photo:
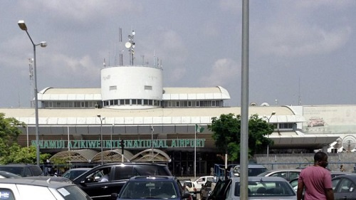
<svg viewBox="0 0 356 200">
<path fill-rule="evenodd" d="M 206 85 L 229 85 L 231 81 L 235 81 L 240 76 L 240 65 L 229 58 L 221 58 L 216 60 L 209 75 L 201 76 L 199 83 L 202 86 Z"/>
</svg>

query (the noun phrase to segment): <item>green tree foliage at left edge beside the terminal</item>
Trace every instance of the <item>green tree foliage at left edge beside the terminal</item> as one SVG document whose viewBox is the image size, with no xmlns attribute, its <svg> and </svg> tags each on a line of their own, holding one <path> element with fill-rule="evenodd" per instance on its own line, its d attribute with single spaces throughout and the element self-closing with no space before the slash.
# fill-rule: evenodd
<svg viewBox="0 0 356 200">
<path fill-rule="evenodd" d="M 20 147 L 17 137 L 21 134 L 19 127 L 26 127 L 13 117 L 5 118 L 0 113 L 0 164 L 28 163 L 36 164 L 36 147 Z M 48 159 L 51 154 L 40 154 L 40 161 Z"/>
</svg>

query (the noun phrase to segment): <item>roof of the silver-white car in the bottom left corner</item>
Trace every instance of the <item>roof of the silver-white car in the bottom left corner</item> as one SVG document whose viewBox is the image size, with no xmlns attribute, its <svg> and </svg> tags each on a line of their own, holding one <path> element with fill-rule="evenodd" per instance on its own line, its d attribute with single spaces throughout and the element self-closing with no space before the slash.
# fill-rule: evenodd
<svg viewBox="0 0 356 200">
<path fill-rule="evenodd" d="M 35 186 L 48 186 L 51 188 L 62 188 L 63 186 L 73 186 L 68 182 L 51 181 L 51 180 L 38 180 L 38 179 L 0 179 L 0 184 L 24 184 L 24 185 L 35 185 Z"/>
</svg>

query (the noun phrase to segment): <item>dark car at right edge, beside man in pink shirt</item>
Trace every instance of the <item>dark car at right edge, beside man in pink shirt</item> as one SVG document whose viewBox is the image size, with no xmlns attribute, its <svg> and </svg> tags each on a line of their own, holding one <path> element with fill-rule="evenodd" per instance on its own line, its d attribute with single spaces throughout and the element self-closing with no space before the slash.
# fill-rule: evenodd
<svg viewBox="0 0 356 200">
<path fill-rule="evenodd" d="M 356 174 L 340 175 L 332 181 L 335 200 L 356 199 Z"/>
</svg>

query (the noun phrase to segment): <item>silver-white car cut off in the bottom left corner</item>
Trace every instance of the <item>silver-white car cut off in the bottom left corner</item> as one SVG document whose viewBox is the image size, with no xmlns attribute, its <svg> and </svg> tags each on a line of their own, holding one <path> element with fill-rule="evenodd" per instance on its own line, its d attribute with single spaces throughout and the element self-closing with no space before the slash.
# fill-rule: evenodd
<svg viewBox="0 0 356 200">
<path fill-rule="evenodd" d="M 33 179 L 0 179 L 0 199 L 90 200 L 75 184 Z"/>
</svg>

